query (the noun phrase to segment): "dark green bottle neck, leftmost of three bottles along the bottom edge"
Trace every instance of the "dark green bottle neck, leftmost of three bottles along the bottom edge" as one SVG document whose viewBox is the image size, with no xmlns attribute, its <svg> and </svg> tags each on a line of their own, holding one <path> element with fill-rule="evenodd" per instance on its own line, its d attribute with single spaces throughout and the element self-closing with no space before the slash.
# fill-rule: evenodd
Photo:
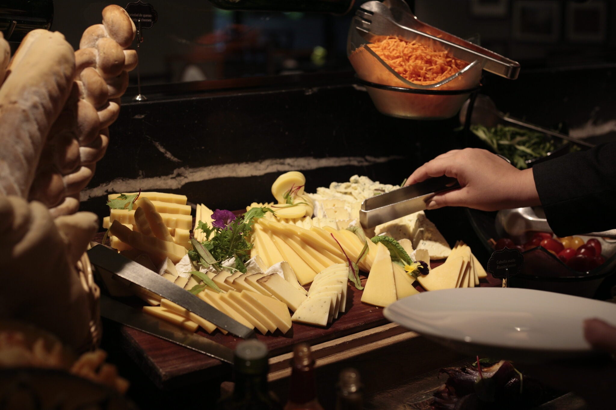
<svg viewBox="0 0 616 410">
<path fill-rule="evenodd" d="M 257 340 L 238 343 L 233 357 L 233 393 L 219 401 L 219 410 L 282 410 L 267 388 L 267 346 Z"/>
</svg>

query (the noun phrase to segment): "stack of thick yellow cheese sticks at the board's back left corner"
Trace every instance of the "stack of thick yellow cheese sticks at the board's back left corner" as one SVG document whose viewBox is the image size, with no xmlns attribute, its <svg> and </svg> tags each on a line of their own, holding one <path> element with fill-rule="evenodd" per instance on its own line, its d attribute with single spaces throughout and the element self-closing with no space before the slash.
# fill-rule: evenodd
<svg viewBox="0 0 616 410">
<path fill-rule="evenodd" d="M 129 193 L 126 195 L 134 194 Z M 109 194 L 107 199 L 116 199 L 118 196 L 120 196 L 120 194 Z M 165 242 L 172 242 L 176 245 L 183 246 L 188 250 L 190 249 L 190 226 L 192 224 L 192 216 L 190 215 L 190 206 L 186 205 L 186 201 L 186 195 L 166 194 L 164 192 L 141 192 L 132 210 L 110 210 L 110 216 L 103 218 L 103 228 L 109 229 L 114 221 L 118 221 L 118 223 L 122 224 L 125 228 L 139 232 L 145 237 L 156 237 Z M 123 231 L 126 233 L 126 229 L 123 229 Z M 134 236 L 139 237 L 139 235 Z M 134 241 L 143 243 L 148 240 L 134 239 Z M 136 248 L 134 243 L 131 244 L 126 240 L 121 240 L 112 232 L 110 232 L 110 244 L 112 248 L 118 251 Z M 142 247 L 137 247 L 137 249 L 145 251 Z M 151 246 L 148 246 L 148 249 L 152 251 Z M 148 253 L 150 251 L 148 251 Z M 183 254 L 180 255 L 180 258 L 182 256 Z M 165 256 L 161 255 L 154 259 L 160 261 L 164 259 L 164 257 Z"/>
</svg>

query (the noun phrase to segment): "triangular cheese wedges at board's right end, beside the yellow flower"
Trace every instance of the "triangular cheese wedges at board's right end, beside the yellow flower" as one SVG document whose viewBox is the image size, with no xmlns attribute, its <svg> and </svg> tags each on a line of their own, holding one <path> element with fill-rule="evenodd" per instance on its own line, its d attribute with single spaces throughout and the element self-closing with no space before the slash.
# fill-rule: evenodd
<svg viewBox="0 0 616 410">
<path fill-rule="evenodd" d="M 417 280 L 425 290 L 452 288 L 474 288 L 487 273 L 471 248 L 458 241 L 445 263 L 432 269 L 428 275 L 420 275 Z"/>
</svg>

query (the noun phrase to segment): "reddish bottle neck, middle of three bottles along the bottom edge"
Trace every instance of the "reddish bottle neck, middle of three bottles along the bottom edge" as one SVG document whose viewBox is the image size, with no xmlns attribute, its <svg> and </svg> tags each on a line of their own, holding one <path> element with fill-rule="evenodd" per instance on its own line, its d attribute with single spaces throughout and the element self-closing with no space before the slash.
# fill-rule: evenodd
<svg viewBox="0 0 616 410">
<path fill-rule="evenodd" d="M 317 399 L 317 380 L 310 346 L 301 343 L 293 347 L 291 386 L 285 410 L 323 410 Z"/>
</svg>

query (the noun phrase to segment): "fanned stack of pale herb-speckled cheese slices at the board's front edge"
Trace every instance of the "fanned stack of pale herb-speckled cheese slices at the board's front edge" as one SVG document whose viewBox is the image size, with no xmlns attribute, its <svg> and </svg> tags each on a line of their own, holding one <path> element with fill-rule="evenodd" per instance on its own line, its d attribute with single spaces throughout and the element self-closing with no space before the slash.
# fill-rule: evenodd
<svg viewBox="0 0 616 410">
<path fill-rule="evenodd" d="M 308 325 L 326 326 L 346 311 L 349 269 L 340 263 L 315 276 L 308 297 L 293 313 L 291 320 Z"/>
</svg>

